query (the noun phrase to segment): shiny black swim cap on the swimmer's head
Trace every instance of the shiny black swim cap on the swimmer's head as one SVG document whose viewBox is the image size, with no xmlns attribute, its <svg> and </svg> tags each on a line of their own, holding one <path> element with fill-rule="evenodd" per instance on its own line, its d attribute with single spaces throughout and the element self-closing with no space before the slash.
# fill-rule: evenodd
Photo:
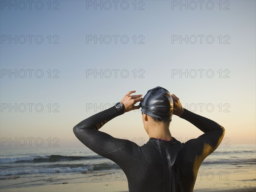
<svg viewBox="0 0 256 192">
<path fill-rule="evenodd" d="M 173 100 L 169 91 L 159 86 L 148 90 L 141 102 L 141 112 L 163 120 L 171 120 Z"/>
</svg>

